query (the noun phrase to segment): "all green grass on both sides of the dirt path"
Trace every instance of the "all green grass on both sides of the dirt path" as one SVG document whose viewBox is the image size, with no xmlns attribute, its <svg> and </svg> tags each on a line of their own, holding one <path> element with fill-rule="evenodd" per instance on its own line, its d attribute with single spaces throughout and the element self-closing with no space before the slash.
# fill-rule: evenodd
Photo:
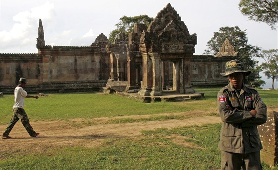
<svg viewBox="0 0 278 170">
<path fill-rule="evenodd" d="M 215 110 L 219 88 L 195 90 L 204 92 L 205 98 L 142 103 L 113 94 L 47 94 L 39 99 L 25 98 L 25 110 L 31 121 Z M 259 93 L 268 107 L 278 106 L 278 90 L 259 90 Z M 0 98 L 0 124 L 7 124 L 11 118 L 13 100 L 13 95 Z M 218 115 L 216 111 L 210 114 Z M 162 116 L 161 119 L 169 117 Z M 108 138 L 101 147 L 64 146 L 49 148 L 44 153 L 0 153 L 0 170 L 217 170 L 220 168 L 220 151 L 217 149 L 220 128 L 221 124 L 217 123 L 157 129 L 142 131 L 143 136 L 137 138 Z M 173 141 L 175 138 L 181 142 Z M 271 169 L 265 164 L 263 166 L 264 170 Z M 278 170 L 278 167 L 273 170 Z"/>
</svg>

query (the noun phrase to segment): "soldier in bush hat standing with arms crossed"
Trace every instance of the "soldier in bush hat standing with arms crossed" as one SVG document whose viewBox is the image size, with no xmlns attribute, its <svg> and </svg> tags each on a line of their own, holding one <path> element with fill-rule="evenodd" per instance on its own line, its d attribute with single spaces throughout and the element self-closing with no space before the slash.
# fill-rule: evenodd
<svg viewBox="0 0 278 170">
<path fill-rule="evenodd" d="M 219 149 L 221 170 L 262 170 L 263 148 L 257 125 L 267 121 L 267 106 L 256 89 L 243 84 L 245 71 L 239 60 L 226 63 L 229 84 L 218 92 L 218 110 L 222 120 Z"/>
</svg>

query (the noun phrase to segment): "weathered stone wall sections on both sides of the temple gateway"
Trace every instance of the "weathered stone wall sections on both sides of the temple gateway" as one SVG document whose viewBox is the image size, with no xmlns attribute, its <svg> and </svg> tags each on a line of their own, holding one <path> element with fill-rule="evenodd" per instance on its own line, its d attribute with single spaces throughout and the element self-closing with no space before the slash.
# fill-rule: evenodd
<svg viewBox="0 0 278 170">
<path fill-rule="evenodd" d="M 234 57 L 194 55 L 190 64 L 191 85 L 224 86 L 220 73 Z M 0 91 L 12 93 L 20 77 L 32 92 L 91 91 L 105 86 L 110 76 L 110 56 L 97 47 L 46 46 L 38 54 L 0 54 Z"/>
</svg>

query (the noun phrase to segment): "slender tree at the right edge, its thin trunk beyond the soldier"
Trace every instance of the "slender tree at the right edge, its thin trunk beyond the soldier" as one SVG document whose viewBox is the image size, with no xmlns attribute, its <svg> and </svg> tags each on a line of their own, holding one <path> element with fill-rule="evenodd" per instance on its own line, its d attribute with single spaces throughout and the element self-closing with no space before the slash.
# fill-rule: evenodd
<svg viewBox="0 0 278 170">
<path fill-rule="evenodd" d="M 274 81 L 278 81 L 278 49 L 262 50 L 259 55 L 264 59 L 261 64 L 262 70 L 268 79 L 272 79 L 272 88 L 274 88 Z"/>
</svg>

